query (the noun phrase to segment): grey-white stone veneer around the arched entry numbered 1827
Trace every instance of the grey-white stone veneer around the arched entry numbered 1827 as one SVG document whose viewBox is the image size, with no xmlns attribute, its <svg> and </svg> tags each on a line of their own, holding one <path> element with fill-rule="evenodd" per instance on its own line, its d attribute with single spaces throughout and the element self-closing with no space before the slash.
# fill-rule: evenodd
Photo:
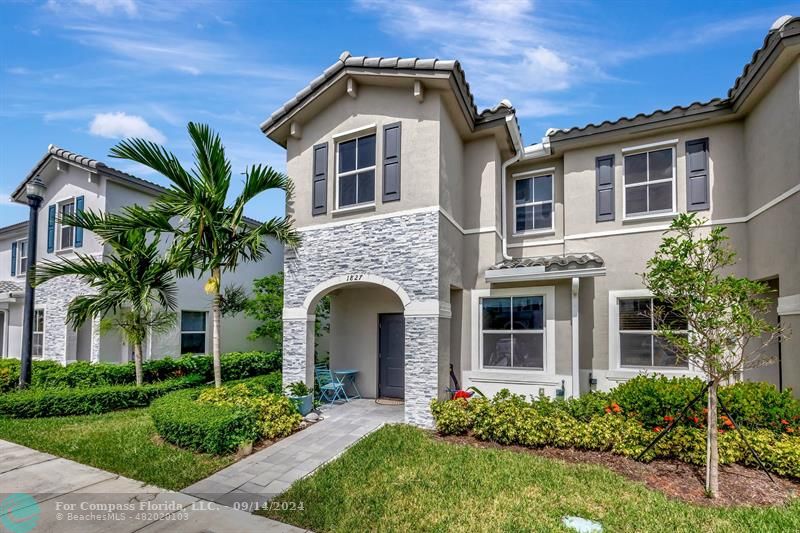
<svg viewBox="0 0 800 533">
<path fill-rule="evenodd" d="M 354 283 L 359 275 L 370 278 L 366 281 L 380 278 L 396 293 L 397 288 L 405 291 L 409 299 L 404 302 L 406 421 L 431 425 L 428 404 L 438 393 L 438 224 L 438 212 L 430 210 L 300 228 L 296 257 L 287 255 L 284 260 L 284 383 L 311 377 L 307 362 L 313 321 L 308 314 L 314 310 L 305 309 L 306 298 L 323 296 L 314 294 L 317 286 L 334 278 L 354 275 Z"/>
</svg>

